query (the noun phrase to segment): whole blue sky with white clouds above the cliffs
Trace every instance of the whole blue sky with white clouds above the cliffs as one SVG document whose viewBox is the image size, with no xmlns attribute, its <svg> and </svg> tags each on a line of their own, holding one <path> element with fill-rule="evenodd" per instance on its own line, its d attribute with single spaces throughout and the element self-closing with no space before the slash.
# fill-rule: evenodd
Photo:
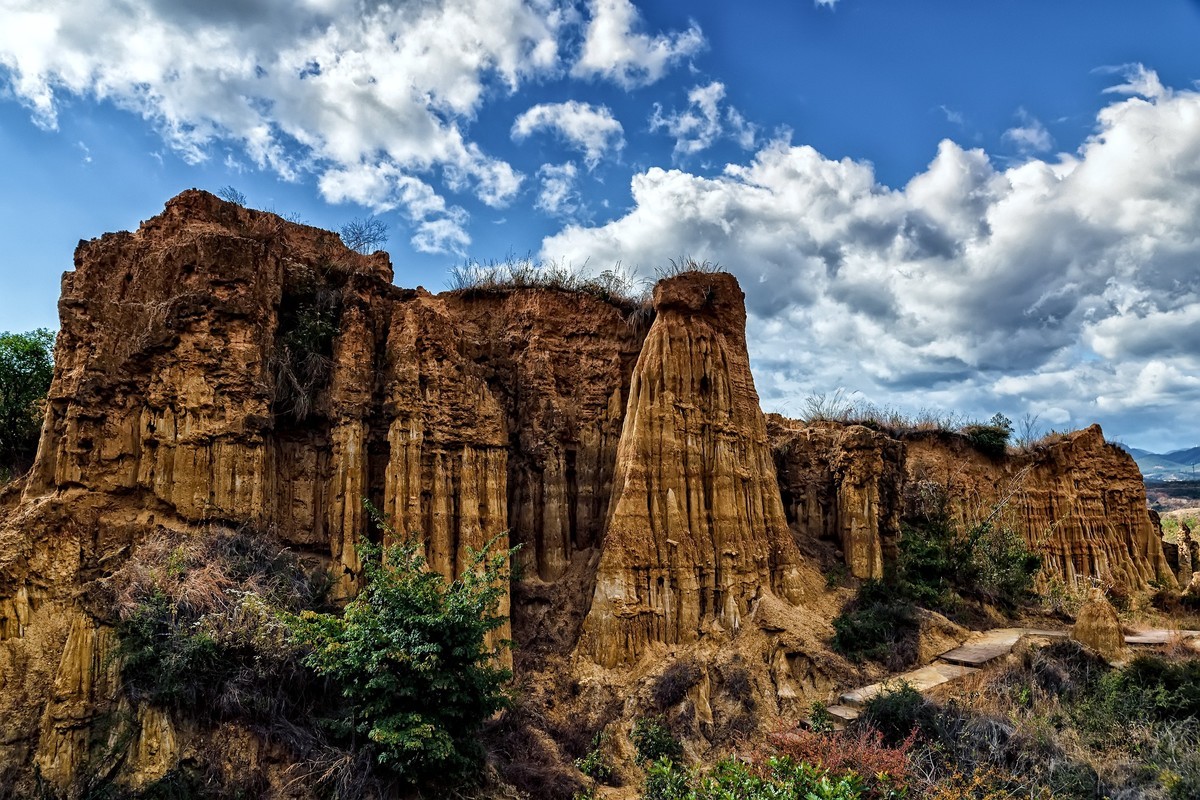
<svg viewBox="0 0 1200 800">
<path fill-rule="evenodd" d="M 768 409 L 1200 441 L 1195 0 L 0 0 L 0 330 L 184 188 L 397 283 L 718 261 Z"/>
</svg>

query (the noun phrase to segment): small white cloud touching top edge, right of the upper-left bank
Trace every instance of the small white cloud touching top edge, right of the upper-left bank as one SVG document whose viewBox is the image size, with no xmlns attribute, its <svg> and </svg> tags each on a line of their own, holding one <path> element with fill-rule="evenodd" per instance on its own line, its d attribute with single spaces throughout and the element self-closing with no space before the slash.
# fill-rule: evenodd
<svg viewBox="0 0 1200 800">
<path fill-rule="evenodd" d="M 588 10 L 583 52 L 571 67 L 576 77 L 601 77 L 625 89 L 644 86 L 704 47 L 704 35 L 695 24 L 677 34 L 636 32 L 641 18 L 630 0 L 589 0 Z"/>
</svg>

